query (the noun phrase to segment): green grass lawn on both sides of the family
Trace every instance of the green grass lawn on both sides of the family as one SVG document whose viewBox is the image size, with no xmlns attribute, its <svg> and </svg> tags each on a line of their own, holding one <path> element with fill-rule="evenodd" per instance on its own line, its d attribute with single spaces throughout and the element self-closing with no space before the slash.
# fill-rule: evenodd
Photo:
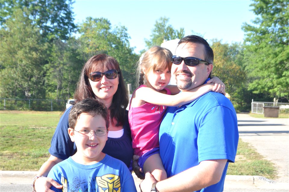
<svg viewBox="0 0 289 192">
<path fill-rule="evenodd" d="M 61 112 L 1 111 L 0 169 L 37 171 L 49 157 L 48 149 Z M 276 178 L 276 169 L 250 144 L 239 140 L 235 163 L 227 175 Z"/>
</svg>

